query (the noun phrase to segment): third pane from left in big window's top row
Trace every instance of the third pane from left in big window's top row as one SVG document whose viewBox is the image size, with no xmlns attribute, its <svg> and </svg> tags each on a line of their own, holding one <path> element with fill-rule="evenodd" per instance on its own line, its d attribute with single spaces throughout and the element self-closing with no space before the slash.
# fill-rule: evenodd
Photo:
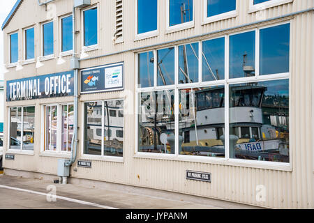
<svg viewBox="0 0 314 223">
<path fill-rule="evenodd" d="M 179 46 L 179 84 L 198 82 L 198 43 Z"/>
</svg>

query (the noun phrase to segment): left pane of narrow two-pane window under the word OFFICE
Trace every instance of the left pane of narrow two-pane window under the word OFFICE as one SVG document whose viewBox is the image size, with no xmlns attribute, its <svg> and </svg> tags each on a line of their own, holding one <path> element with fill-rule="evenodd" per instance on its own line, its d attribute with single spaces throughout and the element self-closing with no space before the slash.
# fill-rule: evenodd
<svg viewBox="0 0 314 223">
<path fill-rule="evenodd" d="M 57 151 L 57 106 L 46 106 L 45 111 L 45 150 Z"/>
</svg>

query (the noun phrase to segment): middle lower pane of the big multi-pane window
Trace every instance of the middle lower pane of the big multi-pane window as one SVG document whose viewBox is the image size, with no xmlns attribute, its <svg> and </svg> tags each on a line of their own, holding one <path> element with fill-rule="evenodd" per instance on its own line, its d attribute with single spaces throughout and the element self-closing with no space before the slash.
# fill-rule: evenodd
<svg viewBox="0 0 314 223">
<path fill-rule="evenodd" d="M 225 157 L 224 87 L 184 89 L 179 96 L 179 154 Z"/>
</svg>

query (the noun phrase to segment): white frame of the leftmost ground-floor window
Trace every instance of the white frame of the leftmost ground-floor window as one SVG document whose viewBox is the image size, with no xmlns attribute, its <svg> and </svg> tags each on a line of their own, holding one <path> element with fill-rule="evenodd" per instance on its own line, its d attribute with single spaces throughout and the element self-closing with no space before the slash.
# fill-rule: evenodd
<svg viewBox="0 0 314 223">
<path fill-rule="evenodd" d="M 30 104 L 30 105 L 16 105 L 16 106 L 8 106 L 8 134 L 7 134 L 7 145 L 6 145 L 6 153 L 13 153 L 13 154 L 22 154 L 22 155 L 34 155 L 34 150 L 35 150 L 35 143 L 33 144 L 33 150 L 23 150 L 23 142 L 21 142 L 20 149 L 14 149 L 10 148 L 10 139 L 11 139 L 11 134 L 10 134 L 10 119 L 11 119 L 11 108 L 21 108 L 21 113 L 22 113 L 22 131 L 21 131 L 21 137 L 23 137 L 24 134 L 24 107 L 35 107 L 35 114 L 36 114 L 36 105 L 35 104 Z M 35 120 L 36 121 L 36 120 Z M 36 129 L 36 125 L 35 125 Z M 4 139 L 4 135 L 3 135 Z"/>
</svg>

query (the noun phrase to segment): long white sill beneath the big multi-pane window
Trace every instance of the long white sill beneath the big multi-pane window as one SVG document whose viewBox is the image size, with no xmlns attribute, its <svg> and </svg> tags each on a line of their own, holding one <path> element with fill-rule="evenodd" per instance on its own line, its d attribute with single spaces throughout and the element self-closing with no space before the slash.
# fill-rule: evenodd
<svg viewBox="0 0 314 223">
<path fill-rule="evenodd" d="M 219 164 L 234 167 L 248 167 L 256 169 L 272 169 L 278 171 L 292 171 L 290 163 L 282 162 L 267 162 L 267 161 L 254 161 L 254 160 L 238 160 L 226 159 L 220 157 L 202 157 L 193 155 L 173 155 L 163 153 L 136 153 L 134 158 L 141 159 L 154 159 L 154 160 L 172 160 L 180 162 L 201 162 L 207 164 Z"/>
</svg>

